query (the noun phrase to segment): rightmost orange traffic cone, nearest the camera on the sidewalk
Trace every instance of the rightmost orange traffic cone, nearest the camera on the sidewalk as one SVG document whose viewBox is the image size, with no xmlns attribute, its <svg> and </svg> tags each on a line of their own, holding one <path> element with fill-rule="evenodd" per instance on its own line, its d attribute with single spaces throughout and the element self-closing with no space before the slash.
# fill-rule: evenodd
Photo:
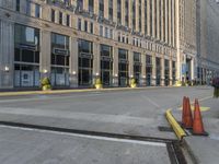
<svg viewBox="0 0 219 164">
<path fill-rule="evenodd" d="M 193 134 L 208 136 L 208 133 L 204 130 L 203 117 L 201 117 L 201 114 L 200 114 L 200 108 L 199 108 L 198 99 L 195 99 L 195 110 L 194 110 L 194 121 L 193 121 Z"/>
</svg>

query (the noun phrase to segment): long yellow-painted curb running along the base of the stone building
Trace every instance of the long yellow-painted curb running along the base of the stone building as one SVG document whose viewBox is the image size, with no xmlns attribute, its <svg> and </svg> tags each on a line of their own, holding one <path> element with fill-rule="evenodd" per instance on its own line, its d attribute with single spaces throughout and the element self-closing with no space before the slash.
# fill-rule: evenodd
<svg viewBox="0 0 219 164">
<path fill-rule="evenodd" d="M 21 91 L 21 92 L 0 92 L 1 96 L 20 96 L 35 94 L 65 94 L 65 93 L 84 93 L 84 92 L 104 92 L 104 91 L 134 91 L 134 90 L 152 90 L 152 89 L 170 89 L 174 86 L 150 86 L 150 87 L 114 87 L 114 89 L 79 89 L 79 90 L 53 90 L 53 91 Z"/>
</svg>

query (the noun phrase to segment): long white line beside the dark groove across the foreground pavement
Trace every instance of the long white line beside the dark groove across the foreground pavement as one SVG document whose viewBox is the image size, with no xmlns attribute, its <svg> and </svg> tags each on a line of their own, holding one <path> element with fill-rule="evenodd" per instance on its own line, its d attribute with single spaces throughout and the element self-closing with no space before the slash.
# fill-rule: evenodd
<svg viewBox="0 0 219 164">
<path fill-rule="evenodd" d="M 18 129 L 18 130 L 25 130 L 25 131 L 36 131 L 42 133 L 54 133 L 59 136 L 71 136 L 78 138 L 87 138 L 93 140 L 104 140 L 104 141 L 113 141 L 113 142 L 125 142 L 125 143 L 134 143 L 134 144 L 141 144 L 141 145 L 152 145 L 152 147 L 163 147 L 165 148 L 166 144 L 162 142 L 152 142 L 152 141 L 137 141 L 137 140 L 127 140 L 127 139 L 117 139 L 117 138 L 110 138 L 110 137 L 100 137 L 100 136 L 90 136 L 90 134 L 78 134 L 78 133 L 70 133 L 70 132 L 58 132 L 51 130 L 39 130 L 39 129 L 32 129 L 32 128 L 21 128 L 21 127 L 10 127 L 10 126 L 2 126 L 2 128 L 9 129 Z"/>
</svg>

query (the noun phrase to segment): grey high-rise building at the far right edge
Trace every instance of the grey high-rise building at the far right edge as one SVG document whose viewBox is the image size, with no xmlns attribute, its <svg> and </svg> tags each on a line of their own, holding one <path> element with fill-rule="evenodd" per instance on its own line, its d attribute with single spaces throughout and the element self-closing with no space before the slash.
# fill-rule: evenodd
<svg viewBox="0 0 219 164">
<path fill-rule="evenodd" d="M 219 75 L 219 1 L 197 0 L 197 79 Z"/>
</svg>

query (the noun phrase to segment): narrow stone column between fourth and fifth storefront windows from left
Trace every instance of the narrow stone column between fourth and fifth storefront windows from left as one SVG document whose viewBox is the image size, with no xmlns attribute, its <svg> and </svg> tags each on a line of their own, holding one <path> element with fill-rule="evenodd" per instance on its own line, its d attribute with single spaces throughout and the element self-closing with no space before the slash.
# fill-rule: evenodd
<svg viewBox="0 0 219 164">
<path fill-rule="evenodd" d="M 118 48 L 113 47 L 113 86 L 118 86 Z"/>
</svg>

